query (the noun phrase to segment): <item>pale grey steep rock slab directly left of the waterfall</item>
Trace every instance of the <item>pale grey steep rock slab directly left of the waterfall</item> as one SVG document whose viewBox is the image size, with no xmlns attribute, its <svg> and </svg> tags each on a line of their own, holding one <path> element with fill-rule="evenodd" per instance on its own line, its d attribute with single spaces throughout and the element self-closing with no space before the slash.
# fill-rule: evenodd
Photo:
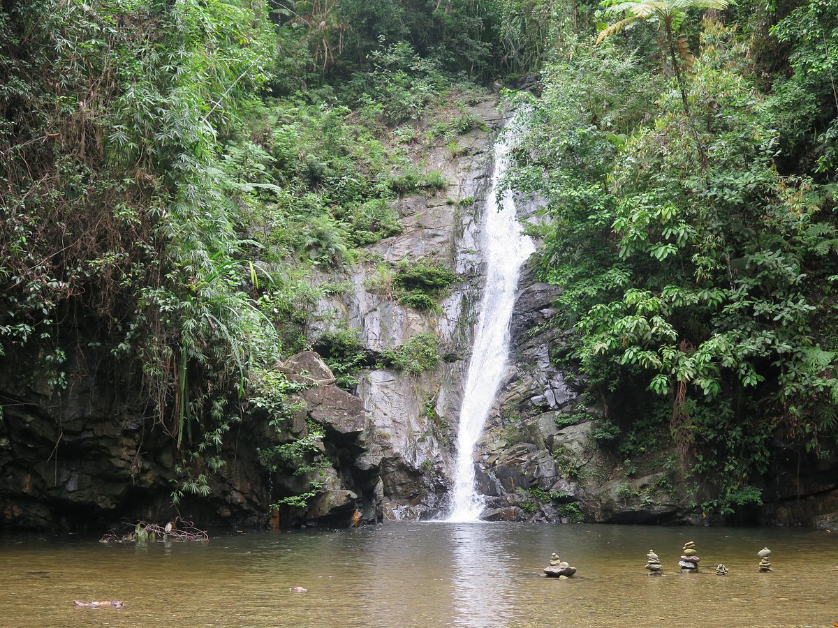
<svg viewBox="0 0 838 628">
<path fill-rule="evenodd" d="M 360 330 L 370 353 L 395 349 L 420 333 L 437 338 L 442 356 L 437 368 L 418 375 L 372 368 L 357 389 L 372 424 L 375 457 L 380 456 L 385 519 L 430 518 L 447 507 L 456 421 L 480 296 L 480 212 L 493 167 L 494 132 L 504 121 L 496 105 L 486 100 L 470 108 L 486 127 L 458 136 L 456 157 L 450 147 L 422 155 L 428 170 L 442 173 L 447 188 L 402 198 L 396 205 L 402 233 L 370 246 L 370 261 L 352 269 L 352 290 L 320 306 L 321 317 L 331 325 Z M 380 261 L 419 259 L 442 262 L 458 275 L 438 313 L 416 311 L 370 287 Z"/>
</svg>

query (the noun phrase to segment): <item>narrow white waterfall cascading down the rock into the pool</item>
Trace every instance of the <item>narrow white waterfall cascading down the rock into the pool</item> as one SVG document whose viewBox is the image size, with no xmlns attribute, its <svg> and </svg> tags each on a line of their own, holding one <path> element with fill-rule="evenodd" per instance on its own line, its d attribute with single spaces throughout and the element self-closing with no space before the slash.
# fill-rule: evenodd
<svg viewBox="0 0 838 628">
<path fill-rule="evenodd" d="M 449 522 L 478 521 L 484 507 L 484 497 L 478 494 L 475 486 L 474 445 L 483 432 L 506 368 L 510 318 L 520 267 L 535 250 L 532 240 L 521 233 L 512 192 L 507 190 L 498 198 L 501 194 L 499 182 L 509 167 L 510 151 L 517 139 L 515 128 L 514 119 L 494 145 L 494 175 L 485 207 L 486 286 L 480 300 L 473 353 L 460 408 L 457 468 Z"/>
</svg>

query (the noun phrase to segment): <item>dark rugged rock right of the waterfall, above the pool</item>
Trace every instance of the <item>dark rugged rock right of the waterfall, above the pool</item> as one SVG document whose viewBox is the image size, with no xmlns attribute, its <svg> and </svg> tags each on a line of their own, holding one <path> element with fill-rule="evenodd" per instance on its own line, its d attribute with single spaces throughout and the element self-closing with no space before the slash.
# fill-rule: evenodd
<svg viewBox="0 0 838 628">
<path fill-rule="evenodd" d="M 566 331 L 551 326 L 556 286 L 527 270 L 512 322 L 510 365 L 478 442 L 480 491 L 486 516 L 510 521 L 612 523 L 710 522 L 696 503 L 713 498 L 691 477 L 691 452 L 649 446 L 628 459 L 609 434 L 601 407 L 567 381 L 549 352 Z M 642 419 L 643 417 L 638 417 Z M 815 460 L 775 443 L 773 470 L 753 478 L 762 507 L 739 521 L 838 528 L 838 461 Z M 716 520 L 718 521 L 718 520 Z"/>
</svg>

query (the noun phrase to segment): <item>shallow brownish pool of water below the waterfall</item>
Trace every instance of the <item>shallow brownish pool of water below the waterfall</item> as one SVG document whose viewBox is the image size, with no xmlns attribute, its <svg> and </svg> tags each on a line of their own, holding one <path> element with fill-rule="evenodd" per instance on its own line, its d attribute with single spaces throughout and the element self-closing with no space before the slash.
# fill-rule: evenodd
<svg viewBox="0 0 838 628">
<path fill-rule="evenodd" d="M 699 574 L 677 569 L 688 540 Z M 766 545 L 774 571 L 759 574 Z M 649 548 L 663 578 L 645 573 Z M 552 551 L 577 575 L 544 578 Z M 731 573 L 714 575 L 718 563 Z M 429 522 L 147 548 L 6 538 L 0 625 L 830 626 L 836 564 L 836 534 L 774 528 Z"/>
</svg>

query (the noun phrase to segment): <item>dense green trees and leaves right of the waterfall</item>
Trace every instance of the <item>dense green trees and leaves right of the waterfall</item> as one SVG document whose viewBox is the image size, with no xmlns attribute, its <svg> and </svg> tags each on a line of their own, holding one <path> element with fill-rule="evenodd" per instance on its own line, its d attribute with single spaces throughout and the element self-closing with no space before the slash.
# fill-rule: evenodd
<svg viewBox="0 0 838 628">
<path fill-rule="evenodd" d="M 515 184 L 549 201 L 541 275 L 577 330 L 554 358 L 621 440 L 665 434 L 716 486 L 705 508 L 732 512 L 773 442 L 835 451 L 838 8 L 693 6 L 620 4 L 598 38 L 612 13 L 557 15 Z"/>
</svg>

